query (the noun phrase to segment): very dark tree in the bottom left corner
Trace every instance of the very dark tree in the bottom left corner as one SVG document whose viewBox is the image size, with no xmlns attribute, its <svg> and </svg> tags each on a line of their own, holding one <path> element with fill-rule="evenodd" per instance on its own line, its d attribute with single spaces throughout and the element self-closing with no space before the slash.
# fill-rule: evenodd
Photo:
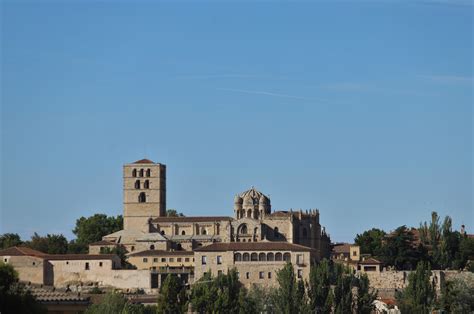
<svg viewBox="0 0 474 314">
<path fill-rule="evenodd" d="M 18 283 L 15 269 L 3 262 L 0 262 L 0 313 L 46 313 L 29 290 Z"/>
</svg>

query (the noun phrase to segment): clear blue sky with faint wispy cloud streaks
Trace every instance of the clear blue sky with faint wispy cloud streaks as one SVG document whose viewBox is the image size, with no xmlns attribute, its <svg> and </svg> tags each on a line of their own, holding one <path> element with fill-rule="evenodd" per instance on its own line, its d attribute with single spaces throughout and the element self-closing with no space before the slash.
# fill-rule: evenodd
<svg viewBox="0 0 474 314">
<path fill-rule="evenodd" d="M 0 233 L 167 207 L 319 209 L 334 242 L 473 215 L 472 1 L 2 1 Z"/>
</svg>

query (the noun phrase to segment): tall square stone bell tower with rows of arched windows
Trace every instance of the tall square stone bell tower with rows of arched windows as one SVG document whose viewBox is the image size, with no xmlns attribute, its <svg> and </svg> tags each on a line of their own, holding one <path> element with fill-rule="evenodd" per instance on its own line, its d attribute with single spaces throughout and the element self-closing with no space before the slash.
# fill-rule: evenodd
<svg viewBox="0 0 474 314">
<path fill-rule="evenodd" d="M 148 159 L 123 166 L 125 230 L 145 230 L 150 218 L 166 216 L 166 166 Z"/>
</svg>

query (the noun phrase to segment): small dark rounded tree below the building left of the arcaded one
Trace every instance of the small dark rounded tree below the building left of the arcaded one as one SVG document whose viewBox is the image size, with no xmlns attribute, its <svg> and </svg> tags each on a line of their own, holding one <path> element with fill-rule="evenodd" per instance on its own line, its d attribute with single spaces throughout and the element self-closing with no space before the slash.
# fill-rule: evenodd
<svg viewBox="0 0 474 314">
<path fill-rule="evenodd" d="M 186 295 L 182 283 L 175 275 L 168 275 L 158 296 L 158 313 L 175 314 L 186 311 Z"/>
</svg>

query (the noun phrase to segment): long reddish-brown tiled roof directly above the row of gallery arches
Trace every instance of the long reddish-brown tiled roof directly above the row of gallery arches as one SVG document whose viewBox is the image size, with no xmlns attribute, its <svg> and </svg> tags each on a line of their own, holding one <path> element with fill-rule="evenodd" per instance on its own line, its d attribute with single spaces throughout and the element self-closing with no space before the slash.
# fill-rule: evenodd
<svg viewBox="0 0 474 314">
<path fill-rule="evenodd" d="M 221 251 L 312 251 L 311 248 L 292 244 L 288 242 L 230 242 L 213 243 L 195 249 L 201 252 L 221 252 Z"/>
</svg>

